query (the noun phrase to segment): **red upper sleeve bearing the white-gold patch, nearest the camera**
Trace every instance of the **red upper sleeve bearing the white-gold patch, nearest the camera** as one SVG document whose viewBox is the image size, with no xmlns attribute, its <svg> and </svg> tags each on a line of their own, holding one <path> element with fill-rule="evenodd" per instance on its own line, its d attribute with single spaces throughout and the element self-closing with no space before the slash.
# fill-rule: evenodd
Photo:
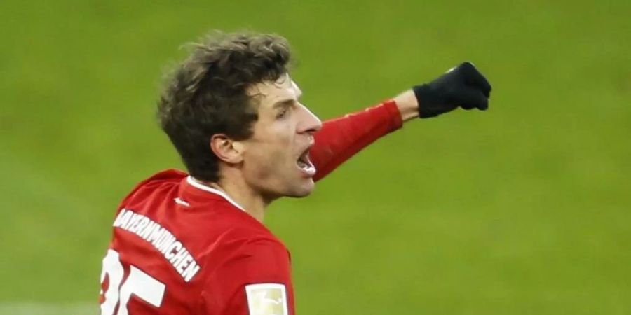
<svg viewBox="0 0 631 315">
<path fill-rule="evenodd" d="M 249 315 L 262 309 L 273 310 L 262 314 L 295 314 L 289 253 L 277 241 L 246 244 L 206 283 L 199 314 Z"/>
</svg>

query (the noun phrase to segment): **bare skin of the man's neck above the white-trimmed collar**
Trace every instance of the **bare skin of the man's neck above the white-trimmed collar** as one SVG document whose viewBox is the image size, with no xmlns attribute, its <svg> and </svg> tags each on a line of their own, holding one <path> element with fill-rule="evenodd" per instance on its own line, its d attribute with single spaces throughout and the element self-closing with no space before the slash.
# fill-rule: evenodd
<svg viewBox="0 0 631 315">
<path fill-rule="evenodd" d="M 234 202 L 243 208 L 247 214 L 263 223 L 265 207 L 269 202 L 266 198 L 245 185 L 243 181 L 222 178 L 217 182 L 201 181 L 203 185 L 221 190 Z"/>
</svg>

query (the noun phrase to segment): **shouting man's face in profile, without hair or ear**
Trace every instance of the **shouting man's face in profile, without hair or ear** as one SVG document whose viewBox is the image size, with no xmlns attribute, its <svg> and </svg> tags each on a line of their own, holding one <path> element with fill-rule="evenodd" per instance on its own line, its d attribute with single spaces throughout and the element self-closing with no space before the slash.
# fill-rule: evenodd
<svg viewBox="0 0 631 315">
<path fill-rule="evenodd" d="M 308 195 L 315 175 L 308 152 L 322 123 L 300 103 L 302 92 L 289 75 L 254 85 L 248 94 L 256 100 L 259 119 L 252 137 L 240 141 L 245 181 L 268 200 Z"/>
</svg>

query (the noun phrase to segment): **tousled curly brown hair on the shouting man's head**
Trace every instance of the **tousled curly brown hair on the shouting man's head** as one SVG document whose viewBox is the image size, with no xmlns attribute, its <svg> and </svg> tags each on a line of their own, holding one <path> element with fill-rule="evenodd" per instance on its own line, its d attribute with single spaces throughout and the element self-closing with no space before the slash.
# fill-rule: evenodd
<svg viewBox="0 0 631 315">
<path fill-rule="evenodd" d="M 158 120 L 189 174 L 218 181 L 219 160 L 210 150 L 210 137 L 252 136 L 258 115 L 246 90 L 287 73 L 290 48 L 276 34 L 219 32 L 193 48 L 168 77 L 158 102 Z"/>
</svg>

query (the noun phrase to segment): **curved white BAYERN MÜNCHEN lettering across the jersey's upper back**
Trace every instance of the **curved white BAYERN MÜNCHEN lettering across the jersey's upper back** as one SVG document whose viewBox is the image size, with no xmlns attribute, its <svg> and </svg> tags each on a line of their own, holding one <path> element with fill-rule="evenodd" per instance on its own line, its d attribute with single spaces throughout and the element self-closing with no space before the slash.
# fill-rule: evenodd
<svg viewBox="0 0 631 315">
<path fill-rule="evenodd" d="M 168 260 L 186 282 L 191 281 L 201 269 L 189 250 L 173 236 L 173 233 L 163 228 L 160 223 L 142 214 L 123 208 L 116 216 L 113 226 L 128 230 L 148 241 Z"/>
</svg>

